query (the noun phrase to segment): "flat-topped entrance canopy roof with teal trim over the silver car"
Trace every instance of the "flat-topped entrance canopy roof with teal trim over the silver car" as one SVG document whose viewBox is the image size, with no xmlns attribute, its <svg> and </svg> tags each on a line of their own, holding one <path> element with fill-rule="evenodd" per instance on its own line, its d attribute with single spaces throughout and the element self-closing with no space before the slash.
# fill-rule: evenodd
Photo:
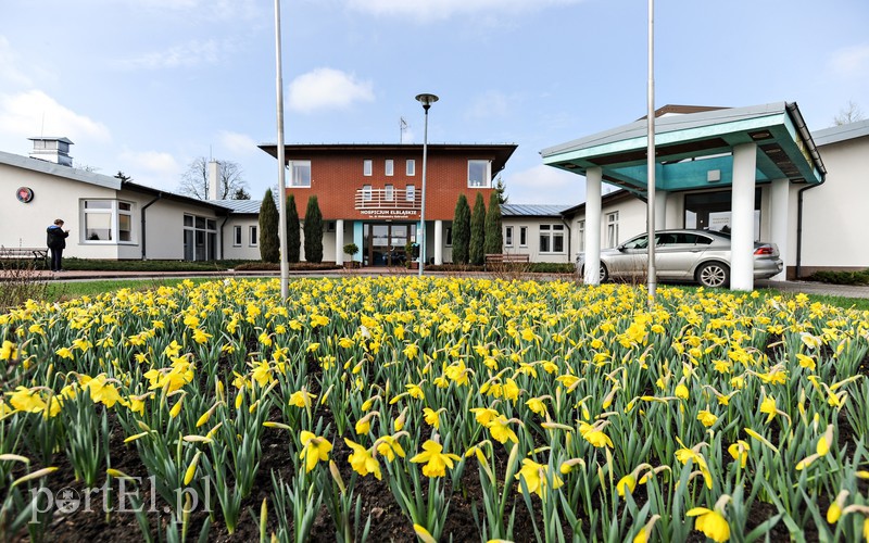
<svg viewBox="0 0 869 543">
<path fill-rule="evenodd" d="M 695 113 L 682 113 L 682 112 Z M 733 182 L 733 148 L 756 144 L 756 182 L 819 184 L 826 171 L 796 103 L 732 109 L 662 108 L 655 119 L 655 187 L 679 191 Z M 668 114 L 676 112 L 681 114 Z M 541 151 L 543 163 L 646 192 L 646 119 Z"/>
</svg>

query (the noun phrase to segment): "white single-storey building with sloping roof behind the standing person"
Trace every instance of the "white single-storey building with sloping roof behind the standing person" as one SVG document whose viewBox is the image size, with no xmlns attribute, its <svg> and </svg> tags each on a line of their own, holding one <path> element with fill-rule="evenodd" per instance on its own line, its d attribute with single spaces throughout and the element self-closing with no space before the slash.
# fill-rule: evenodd
<svg viewBox="0 0 869 543">
<path fill-rule="evenodd" d="M 70 230 L 64 256 L 108 260 L 229 257 L 232 209 L 72 167 L 66 138 L 30 138 L 30 156 L 0 152 L 0 245 L 46 248 L 54 219 Z M 257 202 L 259 209 L 259 202 Z M 239 258 L 259 258 L 236 252 Z"/>
</svg>

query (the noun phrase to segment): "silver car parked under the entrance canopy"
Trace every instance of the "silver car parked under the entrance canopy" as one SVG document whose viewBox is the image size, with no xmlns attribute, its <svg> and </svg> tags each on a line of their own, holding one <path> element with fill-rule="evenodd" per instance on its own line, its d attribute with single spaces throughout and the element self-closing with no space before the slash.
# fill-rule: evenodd
<svg viewBox="0 0 869 543">
<path fill-rule="evenodd" d="M 613 278 L 643 280 L 648 272 L 648 236 L 635 236 L 615 249 L 601 250 L 601 282 Z M 584 273 L 584 254 L 577 258 Z M 755 242 L 754 277 L 767 279 L 782 270 L 779 248 Z M 664 281 L 696 281 L 704 287 L 730 283 L 730 235 L 715 230 L 655 232 L 656 276 Z"/>
</svg>

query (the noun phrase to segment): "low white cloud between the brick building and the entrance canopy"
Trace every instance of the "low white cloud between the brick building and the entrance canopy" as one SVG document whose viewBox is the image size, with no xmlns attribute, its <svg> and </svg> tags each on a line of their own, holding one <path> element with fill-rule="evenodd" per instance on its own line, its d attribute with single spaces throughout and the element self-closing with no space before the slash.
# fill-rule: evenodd
<svg viewBox="0 0 869 543">
<path fill-rule="evenodd" d="M 585 178 L 540 164 L 504 176 L 509 203 L 576 205 L 585 201 Z"/>
</svg>

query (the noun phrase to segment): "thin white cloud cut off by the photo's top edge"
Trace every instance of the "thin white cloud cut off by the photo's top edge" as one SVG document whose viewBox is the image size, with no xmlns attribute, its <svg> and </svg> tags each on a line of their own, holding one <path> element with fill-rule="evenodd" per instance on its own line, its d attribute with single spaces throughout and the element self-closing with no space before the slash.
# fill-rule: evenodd
<svg viewBox="0 0 869 543">
<path fill-rule="evenodd" d="M 440 21 L 457 14 L 522 13 L 551 5 L 579 3 L 582 0 L 348 0 L 351 9 L 375 15 Z"/>
</svg>

